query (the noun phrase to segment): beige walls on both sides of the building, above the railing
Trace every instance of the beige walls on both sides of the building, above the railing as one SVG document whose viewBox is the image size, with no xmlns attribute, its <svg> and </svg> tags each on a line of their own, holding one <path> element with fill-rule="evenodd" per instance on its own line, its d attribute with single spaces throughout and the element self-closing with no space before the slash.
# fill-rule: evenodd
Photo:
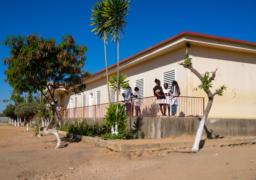
<svg viewBox="0 0 256 180">
<path fill-rule="evenodd" d="M 124 73 L 130 80 L 130 86 L 134 90 L 135 80 L 144 78 L 145 97 L 153 96 L 154 80 L 161 81 L 163 72 L 175 69 L 176 81 L 181 89 L 181 96 L 205 97 L 205 107 L 208 99 L 203 90 L 193 91 L 200 81 L 188 69 L 178 65 L 183 61 L 185 47 L 166 53 L 157 58 L 148 60 L 133 67 L 124 69 Z M 224 51 L 213 48 L 191 46 L 188 53 L 192 58 L 193 66 L 201 74 L 206 71 L 214 71 L 219 68 L 213 81 L 212 92 L 222 85 L 227 86 L 224 96 L 215 96 L 210 117 L 256 117 L 256 55 L 247 53 L 238 53 L 234 51 Z M 109 72 L 112 75 L 112 72 Z M 73 98 L 73 107 L 75 96 L 78 96 L 78 107 L 82 106 L 83 94 L 86 94 L 86 105 L 89 105 L 89 93 L 93 92 L 93 104 L 96 104 L 96 91 L 101 90 L 101 103 L 108 102 L 106 79 L 95 80 L 87 84 L 86 90 L 80 95 L 70 92 L 64 99 Z M 121 97 L 119 96 L 119 100 Z M 65 104 L 65 100 L 61 101 Z M 70 101 L 68 108 L 70 108 Z"/>
</svg>

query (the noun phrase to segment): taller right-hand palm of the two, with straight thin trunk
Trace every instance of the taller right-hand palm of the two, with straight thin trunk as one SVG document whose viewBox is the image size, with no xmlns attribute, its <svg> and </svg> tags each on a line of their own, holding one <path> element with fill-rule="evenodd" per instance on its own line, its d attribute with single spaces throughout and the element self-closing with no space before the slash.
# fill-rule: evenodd
<svg viewBox="0 0 256 180">
<path fill-rule="evenodd" d="M 116 102 L 117 108 L 116 112 L 118 111 L 118 92 L 119 92 L 119 38 L 121 35 L 124 35 L 123 28 L 126 28 L 125 25 L 125 18 L 128 15 L 126 13 L 129 10 L 129 3 L 130 1 L 126 0 L 108 0 L 105 2 L 105 11 L 103 12 L 103 16 L 108 18 L 107 27 L 112 29 L 112 40 L 116 41 L 117 43 L 117 90 L 116 90 Z"/>
</svg>

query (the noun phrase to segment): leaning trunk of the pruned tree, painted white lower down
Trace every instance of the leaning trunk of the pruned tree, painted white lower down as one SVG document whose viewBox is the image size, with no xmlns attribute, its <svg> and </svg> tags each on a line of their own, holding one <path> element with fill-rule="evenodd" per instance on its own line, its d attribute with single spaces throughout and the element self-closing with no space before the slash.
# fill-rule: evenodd
<svg viewBox="0 0 256 180">
<path fill-rule="evenodd" d="M 205 121 L 208 117 L 208 114 L 210 112 L 210 109 L 211 109 L 212 105 L 213 105 L 213 98 L 209 98 L 207 107 L 205 109 L 205 112 L 204 112 L 203 117 L 202 117 L 202 119 L 200 121 L 200 124 L 199 124 L 199 128 L 198 128 L 198 132 L 197 132 L 197 135 L 196 135 L 194 146 L 191 150 L 195 150 L 195 151 L 199 150 L 200 139 L 201 139 L 201 136 L 202 136 L 202 133 L 203 133 Z"/>
</svg>

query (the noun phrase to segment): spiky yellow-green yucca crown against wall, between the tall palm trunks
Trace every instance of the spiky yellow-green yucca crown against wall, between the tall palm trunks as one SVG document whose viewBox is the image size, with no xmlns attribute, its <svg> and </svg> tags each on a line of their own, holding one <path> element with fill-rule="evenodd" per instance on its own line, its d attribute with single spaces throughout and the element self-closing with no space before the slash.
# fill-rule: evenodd
<svg viewBox="0 0 256 180">
<path fill-rule="evenodd" d="M 117 76 L 115 76 L 114 74 L 112 76 L 109 77 L 109 81 L 108 82 L 108 86 L 111 87 L 111 89 L 114 89 L 114 93 L 116 91 L 118 91 L 118 93 L 120 93 L 120 89 L 125 89 L 127 86 L 129 86 L 129 81 L 130 80 L 127 80 L 125 81 L 127 78 L 127 76 L 124 74 L 119 74 L 119 83 L 117 83 Z M 116 101 L 118 102 L 118 101 Z"/>
</svg>

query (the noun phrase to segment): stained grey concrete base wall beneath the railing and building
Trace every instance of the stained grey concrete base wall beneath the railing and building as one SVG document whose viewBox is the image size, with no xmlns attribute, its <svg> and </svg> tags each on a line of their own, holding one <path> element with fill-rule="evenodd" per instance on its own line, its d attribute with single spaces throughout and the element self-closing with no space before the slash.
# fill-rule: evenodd
<svg viewBox="0 0 256 180">
<path fill-rule="evenodd" d="M 75 118 L 63 119 L 62 123 L 72 123 Z M 78 119 L 77 119 L 78 120 Z M 88 124 L 98 122 L 102 126 L 103 118 L 83 118 Z M 132 117 L 128 127 L 141 129 L 145 138 L 168 138 L 180 136 L 195 136 L 199 127 L 200 118 L 164 118 L 164 117 Z M 249 136 L 256 135 L 256 119 L 208 118 L 205 123 L 203 136 Z"/>
</svg>

